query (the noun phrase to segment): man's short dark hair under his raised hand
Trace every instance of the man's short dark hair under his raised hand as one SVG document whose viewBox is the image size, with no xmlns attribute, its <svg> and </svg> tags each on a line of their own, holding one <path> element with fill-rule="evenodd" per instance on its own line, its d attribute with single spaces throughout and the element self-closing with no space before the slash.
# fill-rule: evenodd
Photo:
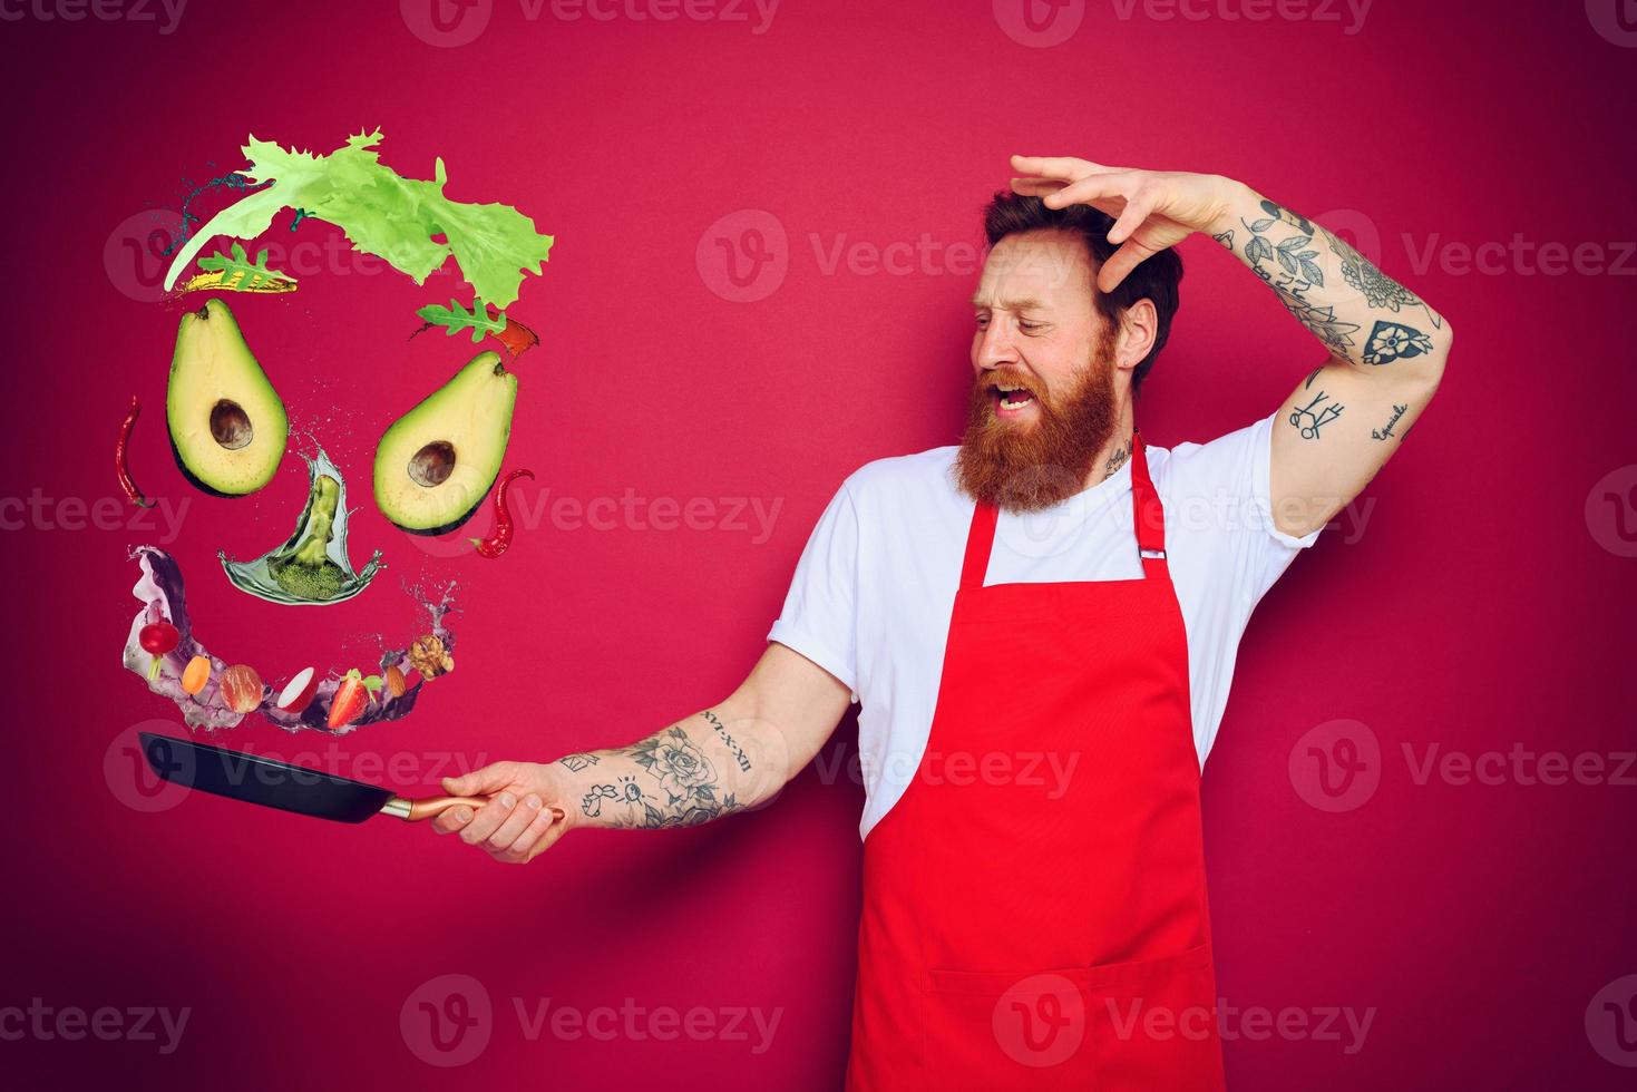
<svg viewBox="0 0 1637 1092">
<path fill-rule="evenodd" d="M 1118 323 L 1125 309 L 1138 300 L 1154 301 L 1154 347 L 1131 372 L 1131 393 L 1136 395 L 1159 350 L 1166 347 L 1166 339 L 1170 337 L 1170 319 L 1177 314 L 1177 283 L 1182 280 L 1182 255 L 1166 247 L 1131 270 L 1112 293 L 1098 291 L 1097 270 L 1116 250 L 1116 246 L 1108 242 L 1108 229 L 1113 226 L 1113 216 L 1090 205 L 1046 208 L 1038 196 L 1010 190 L 999 190 L 984 208 L 984 236 L 990 247 L 1007 236 L 1025 231 L 1071 231 L 1080 236 L 1092 259 L 1092 303 L 1110 324 Z"/>
</svg>

